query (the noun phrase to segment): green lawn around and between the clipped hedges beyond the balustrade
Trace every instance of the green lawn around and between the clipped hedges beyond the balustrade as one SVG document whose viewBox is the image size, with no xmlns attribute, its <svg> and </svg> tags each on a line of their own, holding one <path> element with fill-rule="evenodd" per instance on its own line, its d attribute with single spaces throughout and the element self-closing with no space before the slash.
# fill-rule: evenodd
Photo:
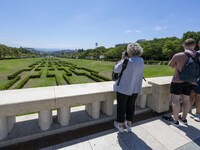
<svg viewBox="0 0 200 150">
<path fill-rule="evenodd" d="M 46 59 L 46 58 L 45 58 Z M 7 76 L 15 73 L 16 71 L 20 69 L 29 68 L 28 66 L 41 61 L 42 58 L 28 58 L 28 59 L 13 59 L 13 60 L 0 60 L 0 87 L 5 85 L 9 80 L 7 80 Z M 56 85 L 55 77 L 46 78 L 46 72 L 47 72 L 47 64 L 48 62 L 54 63 L 54 68 L 56 63 L 58 63 L 58 60 L 62 60 L 64 62 L 72 63 L 77 65 L 77 67 L 85 67 L 87 69 L 92 69 L 95 71 L 98 71 L 100 75 L 111 78 L 111 73 L 113 70 L 114 65 L 116 62 L 108 62 L 108 61 L 94 61 L 94 60 L 81 60 L 81 59 L 66 59 L 66 58 L 56 58 L 56 60 L 46 60 L 46 63 L 44 63 L 44 67 L 40 67 L 42 69 L 42 76 L 41 78 L 36 79 L 30 79 L 26 85 L 23 88 L 31 88 L 31 87 L 44 87 L 44 86 L 54 86 Z M 64 67 L 64 66 L 60 66 Z M 65 69 L 69 70 L 68 67 L 64 67 Z M 87 72 L 85 70 L 78 70 L 78 72 Z M 37 74 L 39 71 L 32 70 L 31 72 L 25 71 L 22 72 L 21 78 L 24 78 L 27 75 L 33 75 Z M 62 78 L 64 70 L 54 70 L 49 71 L 50 73 L 57 74 L 57 77 L 61 81 L 61 84 L 66 84 L 64 79 Z M 144 69 L 144 77 L 159 77 L 159 76 L 170 76 L 173 75 L 174 70 L 172 68 L 169 68 L 166 65 L 145 65 Z M 89 72 L 87 72 L 90 74 Z M 62 78 L 62 79 L 61 79 Z M 89 83 L 89 82 L 95 82 L 91 80 L 90 78 L 86 76 L 77 76 L 74 73 L 72 76 L 68 77 L 68 79 L 73 84 L 79 84 L 79 83 Z M 22 80 L 22 79 L 21 79 Z M 18 81 L 20 82 L 20 80 Z"/>
</svg>

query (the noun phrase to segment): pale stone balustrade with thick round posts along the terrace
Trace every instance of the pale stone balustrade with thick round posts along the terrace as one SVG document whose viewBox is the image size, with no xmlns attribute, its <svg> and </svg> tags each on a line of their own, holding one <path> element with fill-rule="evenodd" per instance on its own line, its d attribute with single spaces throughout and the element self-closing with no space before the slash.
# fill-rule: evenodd
<svg viewBox="0 0 200 150">
<path fill-rule="evenodd" d="M 168 96 L 162 98 L 162 94 L 169 92 L 170 82 L 167 82 L 170 78 L 164 77 L 159 83 L 156 78 L 147 78 L 152 85 L 143 82 L 137 105 L 158 112 L 166 111 L 169 99 Z M 161 85 L 161 81 L 166 83 Z M 113 115 L 115 99 L 113 81 L 0 91 L 0 140 L 12 132 L 18 114 L 38 112 L 38 126 L 45 131 L 49 130 L 53 123 L 52 110 L 57 110 L 60 125 L 67 126 L 72 106 L 85 105 L 88 115 L 98 119 L 100 112 Z"/>
</svg>

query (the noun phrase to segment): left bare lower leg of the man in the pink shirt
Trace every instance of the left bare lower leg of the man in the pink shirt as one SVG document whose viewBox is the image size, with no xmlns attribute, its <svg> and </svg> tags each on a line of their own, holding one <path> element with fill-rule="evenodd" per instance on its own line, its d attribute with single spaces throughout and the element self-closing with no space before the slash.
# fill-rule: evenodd
<svg viewBox="0 0 200 150">
<path fill-rule="evenodd" d="M 172 100 L 172 110 L 173 110 L 173 117 L 174 121 L 178 121 L 178 114 L 180 112 L 180 95 L 171 95 Z"/>
</svg>

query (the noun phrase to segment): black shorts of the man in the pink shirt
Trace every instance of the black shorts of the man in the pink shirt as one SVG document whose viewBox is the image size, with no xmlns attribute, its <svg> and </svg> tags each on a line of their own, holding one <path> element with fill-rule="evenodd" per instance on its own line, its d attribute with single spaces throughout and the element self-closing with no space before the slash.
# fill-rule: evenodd
<svg viewBox="0 0 200 150">
<path fill-rule="evenodd" d="M 188 82 L 183 83 L 171 83 L 170 93 L 176 95 L 190 95 L 191 91 L 194 89 L 194 85 Z"/>
</svg>

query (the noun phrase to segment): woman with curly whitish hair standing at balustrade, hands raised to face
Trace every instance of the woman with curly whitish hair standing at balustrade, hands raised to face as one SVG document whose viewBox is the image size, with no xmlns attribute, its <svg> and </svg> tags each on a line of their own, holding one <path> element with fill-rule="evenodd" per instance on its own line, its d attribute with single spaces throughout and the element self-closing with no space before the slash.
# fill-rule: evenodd
<svg viewBox="0 0 200 150">
<path fill-rule="evenodd" d="M 142 90 L 142 79 L 144 74 L 144 60 L 140 56 L 143 49 L 138 43 L 130 43 L 127 51 L 122 53 L 122 59 L 115 67 L 114 72 L 122 71 L 123 62 L 128 59 L 126 69 L 123 71 L 120 82 L 116 80 L 114 91 L 117 93 L 117 121 L 114 126 L 120 133 L 126 128 L 131 132 L 131 124 L 135 111 L 135 100 Z"/>
</svg>

